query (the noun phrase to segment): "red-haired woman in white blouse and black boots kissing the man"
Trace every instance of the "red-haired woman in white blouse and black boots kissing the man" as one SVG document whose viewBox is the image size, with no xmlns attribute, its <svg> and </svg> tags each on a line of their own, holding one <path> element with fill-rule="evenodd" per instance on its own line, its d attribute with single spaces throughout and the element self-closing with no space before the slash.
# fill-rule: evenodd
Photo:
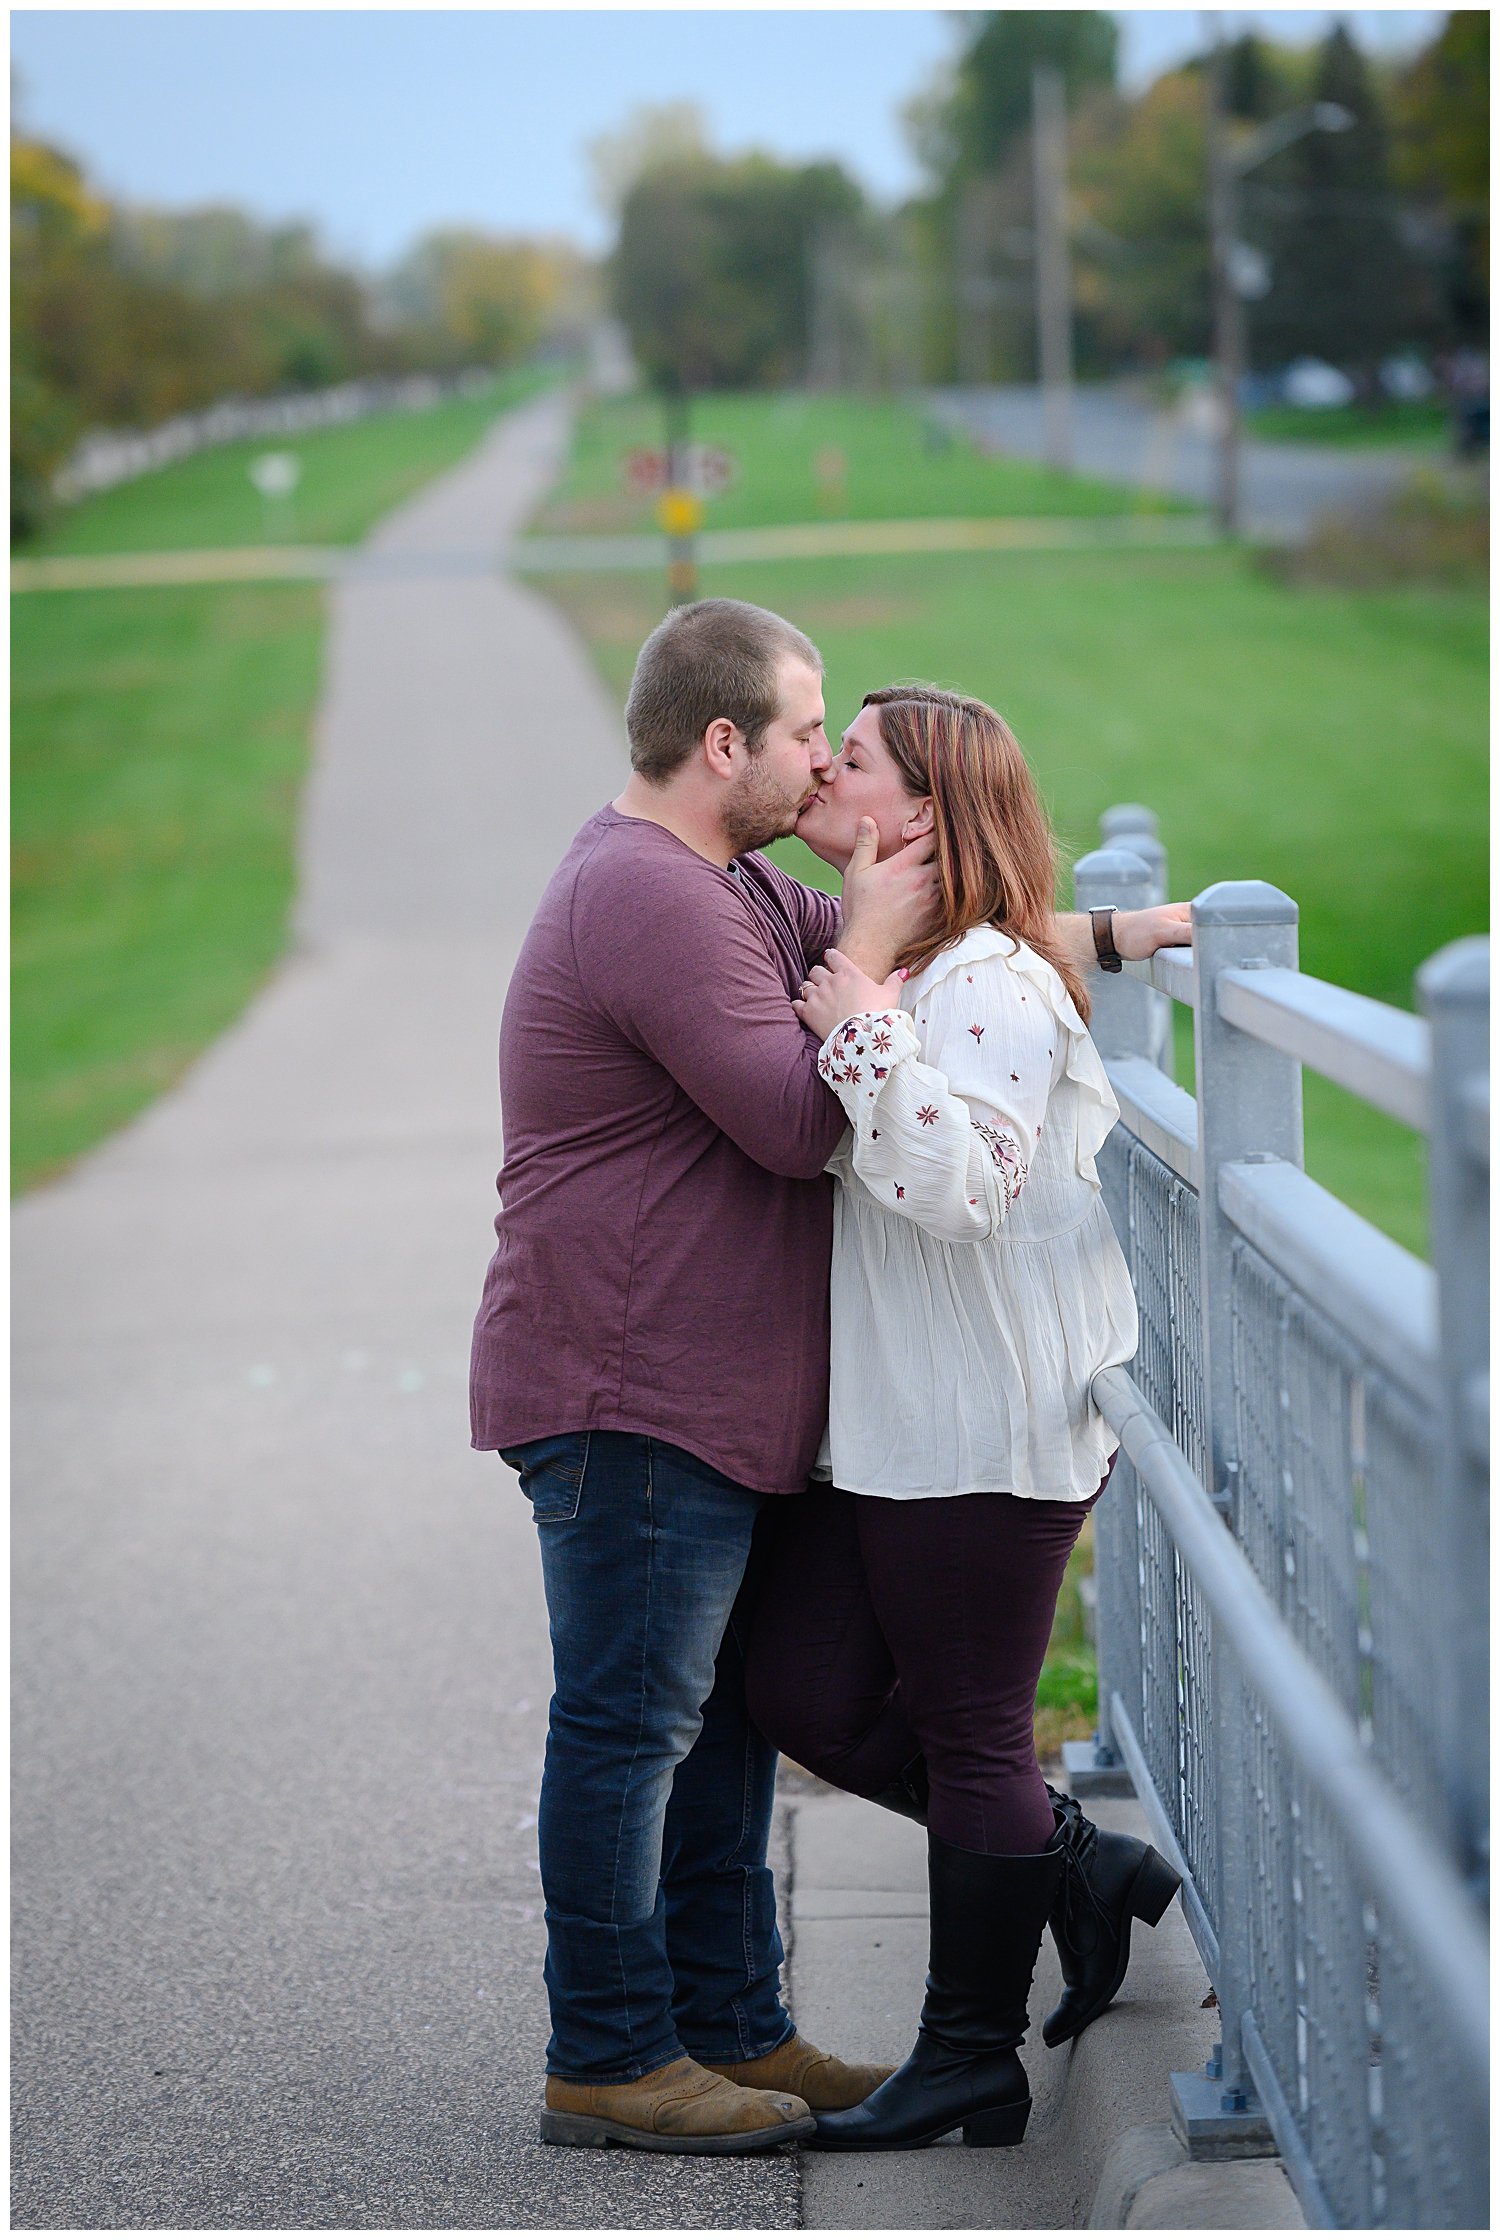
<svg viewBox="0 0 1500 2240">
<path fill-rule="evenodd" d="M 833 1158 L 831 1483 L 766 1514 L 748 1691 L 777 1747 L 927 1821 L 931 1967 L 916 2050 L 815 2146 L 1012 2146 L 1016 2045 L 1052 1920 L 1046 2038 L 1119 1989 L 1131 1917 L 1178 1888 L 1151 1846 L 1054 1799 L 1037 1676 L 1068 1555 L 1113 1467 L 1095 1371 L 1135 1299 L 1095 1154 L 1117 1104 L 1052 948 L 1054 847 L 983 701 L 871 692 L 797 831 L 844 865 L 931 831 L 943 912 L 884 986 L 837 950 L 797 1012 L 851 1133 Z"/>
</svg>

